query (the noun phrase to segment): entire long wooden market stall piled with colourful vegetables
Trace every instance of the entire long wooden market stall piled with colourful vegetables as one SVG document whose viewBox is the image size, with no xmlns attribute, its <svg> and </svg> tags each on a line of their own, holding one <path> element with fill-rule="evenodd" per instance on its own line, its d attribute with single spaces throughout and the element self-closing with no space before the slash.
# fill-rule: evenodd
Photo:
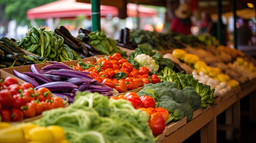
<svg viewBox="0 0 256 143">
<path fill-rule="evenodd" d="M 217 130 L 239 138 L 247 95 L 255 120 L 255 59 L 211 36 L 78 33 L 33 27 L 0 38 L 0 135 L 20 133 L 0 142 L 183 142 L 198 130 L 201 142 L 217 142 Z"/>
</svg>

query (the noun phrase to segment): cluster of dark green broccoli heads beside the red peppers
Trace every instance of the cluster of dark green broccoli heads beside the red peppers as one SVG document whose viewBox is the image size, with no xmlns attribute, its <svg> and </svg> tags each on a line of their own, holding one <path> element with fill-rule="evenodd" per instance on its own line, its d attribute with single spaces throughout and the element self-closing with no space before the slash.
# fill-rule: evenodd
<svg viewBox="0 0 256 143">
<path fill-rule="evenodd" d="M 187 121 L 192 120 L 193 111 L 198 110 L 201 105 L 201 96 L 195 89 L 188 87 L 180 91 L 175 83 L 168 81 L 149 83 L 137 95 L 149 95 L 155 99 L 156 107 L 167 110 L 169 119 L 166 124 L 172 120 L 181 120 L 184 116 L 187 116 Z"/>
</svg>

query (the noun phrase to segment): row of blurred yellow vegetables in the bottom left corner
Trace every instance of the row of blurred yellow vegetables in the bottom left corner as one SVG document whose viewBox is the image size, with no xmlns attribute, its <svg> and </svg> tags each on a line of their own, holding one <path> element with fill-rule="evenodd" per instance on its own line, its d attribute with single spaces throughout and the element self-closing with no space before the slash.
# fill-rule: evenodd
<svg viewBox="0 0 256 143">
<path fill-rule="evenodd" d="M 60 126 L 42 127 L 33 123 L 24 123 L 11 126 L 9 123 L 0 122 L 0 142 L 26 143 L 48 142 L 69 143 L 65 139 L 65 132 Z"/>
</svg>

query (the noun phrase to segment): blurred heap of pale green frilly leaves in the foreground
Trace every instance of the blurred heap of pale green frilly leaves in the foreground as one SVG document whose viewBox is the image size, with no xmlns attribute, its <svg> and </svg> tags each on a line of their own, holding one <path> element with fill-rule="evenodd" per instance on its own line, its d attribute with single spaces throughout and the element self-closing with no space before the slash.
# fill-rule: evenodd
<svg viewBox="0 0 256 143">
<path fill-rule="evenodd" d="M 108 100 L 98 93 L 77 92 L 75 102 L 67 108 L 44 111 L 36 123 L 58 125 L 69 142 L 154 142 L 147 120 L 126 100 Z"/>
</svg>

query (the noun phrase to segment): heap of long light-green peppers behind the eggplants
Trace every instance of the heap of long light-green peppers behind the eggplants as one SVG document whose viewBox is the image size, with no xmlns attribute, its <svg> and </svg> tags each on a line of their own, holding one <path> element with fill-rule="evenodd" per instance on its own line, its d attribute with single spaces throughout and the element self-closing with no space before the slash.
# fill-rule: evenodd
<svg viewBox="0 0 256 143">
<path fill-rule="evenodd" d="M 26 36 L 15 42 L 20 48 L 46 58 L 47 61 L 71 61 L 81 58 L 64 44 L 64 39 L 45 28 L 30 29 Z"/>
</svg>

